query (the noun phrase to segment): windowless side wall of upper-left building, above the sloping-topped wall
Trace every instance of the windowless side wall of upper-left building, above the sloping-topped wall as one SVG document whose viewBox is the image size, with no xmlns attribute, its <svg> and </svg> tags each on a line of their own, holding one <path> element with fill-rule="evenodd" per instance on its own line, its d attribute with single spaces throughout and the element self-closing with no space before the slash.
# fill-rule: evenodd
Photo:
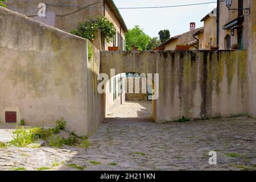
<svg viewBox="0 0 256 182">
<path fill-rule="evenodd" d="M 54 22 L 51 26 L 66 32 L 75 29 L 78 22 L 90 16 L 103 15 L 102 0 L 9 0 L 7 8 L 46 23 L 43 20 L 44 17 L 38 16 L 38 5 L 41 2 L 46 3 L 47 6 L 46 19 L 49 19 L 48 22 Z M 93 44 L 101 49 L 100 35 L 93 41 Z"/>
</svg>

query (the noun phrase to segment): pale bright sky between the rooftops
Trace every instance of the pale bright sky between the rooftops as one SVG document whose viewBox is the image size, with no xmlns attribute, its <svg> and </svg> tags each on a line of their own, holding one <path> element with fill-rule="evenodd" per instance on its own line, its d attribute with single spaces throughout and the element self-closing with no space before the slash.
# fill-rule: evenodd
<svg viewBox="0 0 256 182">
<path fill-rule="evenodd" d="M 114 0 L 117 7 L 150 7 L 187 5 L 193 3 L 216 2 L 216 0 Z M 151 36 L 158 36 L 160 30 L 170 30 L 171 36 L 189 31 L 189 23 L 196 22 L 196 28 L 203 27 L 200 22 L 217 3 L 163 9 L 119 9 L 126 26 L 130 29 L 139 25 Z"/>
</svg>

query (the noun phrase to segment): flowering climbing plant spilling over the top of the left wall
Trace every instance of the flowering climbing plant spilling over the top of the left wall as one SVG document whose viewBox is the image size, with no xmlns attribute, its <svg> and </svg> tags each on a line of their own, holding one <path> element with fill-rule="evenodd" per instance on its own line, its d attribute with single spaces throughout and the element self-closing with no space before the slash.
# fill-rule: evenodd
<svg viewBox="0 0 256 182">
<path fill-rule="evenodd" d="M 86 19 L 84 22 L 79 22 L 76 30 L 72 30 L 71 34 L 93 41 L 98 32 L 101 32 L 108 43 L 113 40 L 114 35 L 117 33 L 114 24 L 108 18 L 94 16 Z"/>
</svg>

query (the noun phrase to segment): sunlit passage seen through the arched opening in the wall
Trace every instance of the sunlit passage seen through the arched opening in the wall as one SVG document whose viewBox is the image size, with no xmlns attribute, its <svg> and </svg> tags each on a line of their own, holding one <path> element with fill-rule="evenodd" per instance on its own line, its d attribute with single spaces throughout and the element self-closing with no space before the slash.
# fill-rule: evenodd
<svg viewBox="0 0 256 182">
<path fill-rule="evenodd" d="M 107 118 L 153 119 L 153 82 L 143 73 L 118 73 L 106 84 Z"/>
</svg>

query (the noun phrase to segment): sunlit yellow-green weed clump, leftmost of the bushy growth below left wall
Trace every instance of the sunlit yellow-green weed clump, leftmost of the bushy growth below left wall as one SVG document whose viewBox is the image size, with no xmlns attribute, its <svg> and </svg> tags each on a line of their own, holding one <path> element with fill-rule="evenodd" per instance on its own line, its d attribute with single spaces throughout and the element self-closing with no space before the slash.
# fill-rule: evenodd
<svg viewBox="0 0 256 182">
<path fill-rule="evenodd" d="M 28 144 L 31 144 L 34 141 L 32 129 L 24 129 L 23 126 L 16 126 L 12 137 L 13 140 L 11 140 L 10 143 L 16 147 L 26 147 Z"/>
</svg>

